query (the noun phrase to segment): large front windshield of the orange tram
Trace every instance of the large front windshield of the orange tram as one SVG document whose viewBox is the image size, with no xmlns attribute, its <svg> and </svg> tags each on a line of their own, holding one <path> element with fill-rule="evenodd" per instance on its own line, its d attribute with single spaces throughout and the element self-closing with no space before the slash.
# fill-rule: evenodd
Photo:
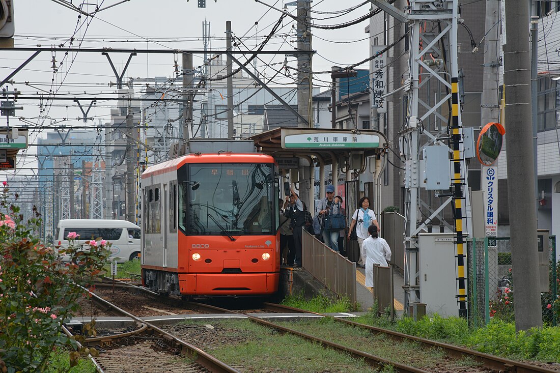
<svg viewBox="0 0 560 373">
<path fill-rule="evenodd" d="M 187 235 L 276 233 L 273 165 L 190 164 L 186 170 L 180 227 Z"/>
</svg>

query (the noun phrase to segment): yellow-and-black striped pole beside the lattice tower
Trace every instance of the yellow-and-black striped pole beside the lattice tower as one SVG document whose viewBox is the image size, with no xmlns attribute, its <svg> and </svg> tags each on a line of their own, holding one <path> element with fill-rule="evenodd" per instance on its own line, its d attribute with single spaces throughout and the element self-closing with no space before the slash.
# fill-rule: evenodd
<svg viewBox="0 0 560 373">
<path fill-rule="evenodd" d="M 463 185 L 465 184 L 464 175 L 461 174 L 461 164 L 464 163 L 463 155 L 460 151 L 460 144 L 463 142 L 463 130 L 459 120 L 459 80 L 451 78 L 451 148 L 453 155 L 451 163 L 453 176 L 451 178 L 451 192 L 453 195 L 454 218 L 455 218 L 455 245 L 457 258 L 457 301 L 459 303 L 459 316 L 466 318 L 466 281 L 465 281 L 465 251 L 466 244 L 463 236 Z"/>
</svg>

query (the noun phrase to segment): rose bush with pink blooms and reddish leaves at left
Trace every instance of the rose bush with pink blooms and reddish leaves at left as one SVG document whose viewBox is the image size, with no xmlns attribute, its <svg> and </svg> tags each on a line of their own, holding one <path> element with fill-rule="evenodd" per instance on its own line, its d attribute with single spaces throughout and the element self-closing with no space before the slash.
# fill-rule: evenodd
<svg viewBox="0 0 560 373">
<path fill-rule="evenodd" d="M 63 263 L 52 248 L 38 239 L 41 220 L 24 220 L 20 209 L 8 203 L 4 181 L 0 197 L 0 372 L 43 372 L 59 346 L 76 347 L 62 333 L 62 323 L 78 310 L 77 300 L 104 274 L 110 255 L 105 245 L 92 241 L 89 250 L 70 245 L 72 262 Z M 15 195 L 17 201 L 17 194 Z M 74 236 L 75 238 L 76 236 Z M 78 353 L 71 354 L 71 365 Z"/>
</svg>

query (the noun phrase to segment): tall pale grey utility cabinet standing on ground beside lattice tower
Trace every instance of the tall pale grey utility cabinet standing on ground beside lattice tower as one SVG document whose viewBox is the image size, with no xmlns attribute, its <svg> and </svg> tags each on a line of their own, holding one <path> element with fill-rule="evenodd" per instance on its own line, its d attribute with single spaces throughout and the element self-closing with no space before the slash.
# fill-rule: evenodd
<svg viewBox="0 0 560 373">
<path fill-rule="evenodd" d="M 454 237 L 451 232 L 418 235 L 420 302 L 426 304 L 427 314 L 459 315 Z M 466 254 L 466 244 L 464 247 Z"/>
</svg>

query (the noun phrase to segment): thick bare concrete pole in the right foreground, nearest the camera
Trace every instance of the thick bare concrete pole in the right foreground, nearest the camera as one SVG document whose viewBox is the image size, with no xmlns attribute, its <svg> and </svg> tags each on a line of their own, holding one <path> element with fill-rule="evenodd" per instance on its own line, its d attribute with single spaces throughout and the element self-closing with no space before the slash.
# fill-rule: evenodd
<svg viewBox="0 0 560 373">
<path fill-rule="evenodd" d="M 534 206 L 531 74 L 527 29 L 529 7 L 506 0 L 506 44 L 503 46 L 506 89 L 507 193 L 515 283 L 515 329 L 543 326 Z"/>
</svg>

